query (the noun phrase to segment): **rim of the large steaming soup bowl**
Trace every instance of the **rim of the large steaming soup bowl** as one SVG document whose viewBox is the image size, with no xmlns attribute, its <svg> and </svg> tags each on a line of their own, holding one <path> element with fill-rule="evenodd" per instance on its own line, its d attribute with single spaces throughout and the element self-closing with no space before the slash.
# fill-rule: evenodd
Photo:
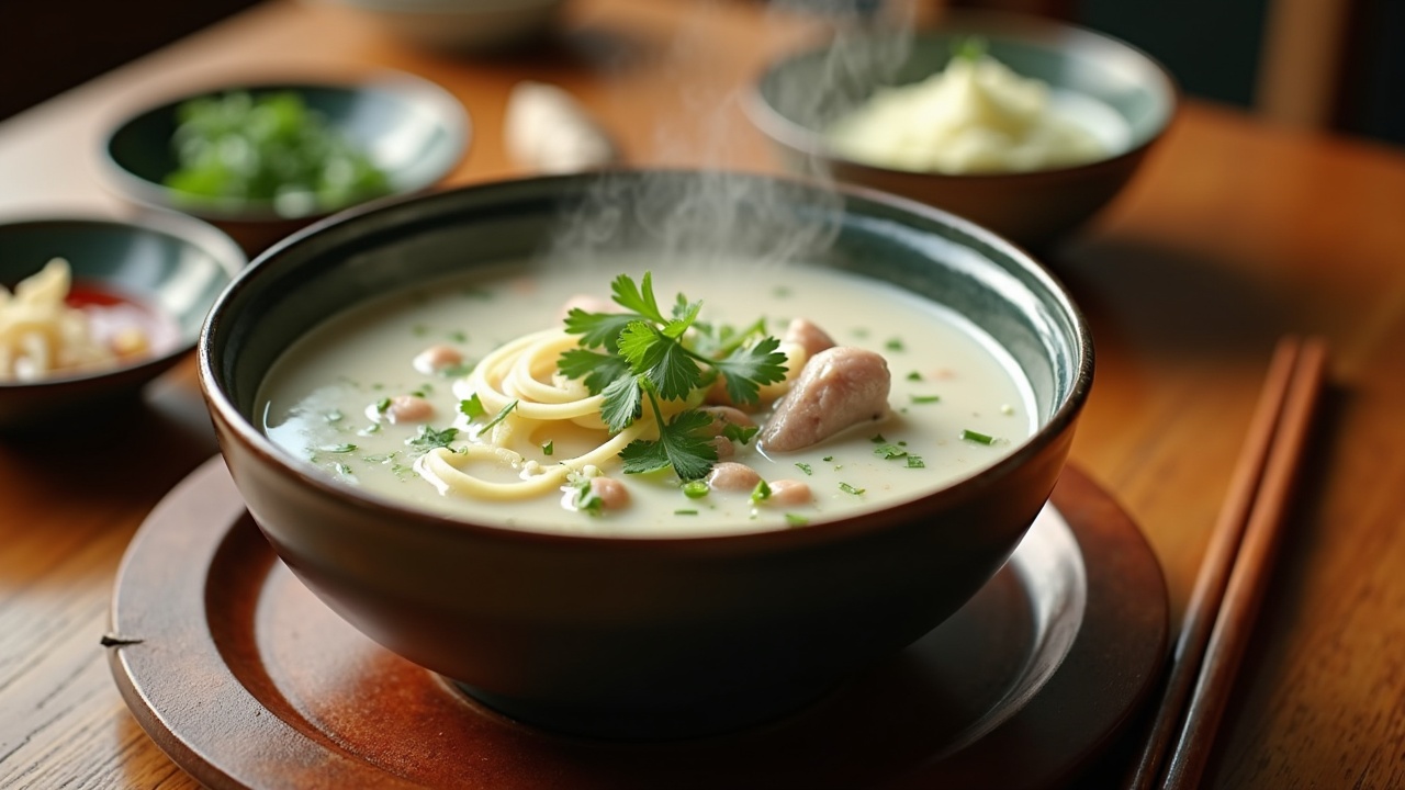
<svg viewBox="0 0 1405 790">
<path fill-rule="evenodd" d="M 672 173 L 687 177 L 690 174 L 700 174 L 702 170 L 683 169 L 683 167 L 638 167 L 638 169 L 617 169 L 611 171 L 614 176 L 624 174 L 627 177 L 642 177 L 645 174 L 656 173 Z M 707 173 L 717 174 L 717 170 L 707 170 Z M 857 198 L 868 201 L 877 205 L 887 205 L 889 208 L 896 208 L 899 211 L 920 215 L 926 219 L 934 219 L 940 224 L 954 228 L 960 233 L 964 233 L 984 245 L 988 245 L 1002 254 L 1013 260 L 1021 274 L 1031 277 L 1040 288 L 1045 290 L 1058 304 L 1059 315 L 1064 316 L 1069 326 L 1072 328 L 1072 343 L 1071 350 L 1073 351 L 1072 360 L 1072 374 L 1071 374 L 1071 388 L 1068 395 L 1059 401 L 1050 415 L 1050 419 L 1040 425 L 1035 432 L 1021 441 L 1013 451 L 998 458 L 995 462 L 982 467 L 976 472 L 960 478 L 957 481 L 948 482 L 946 485 L 937 486 L 932 491 L 920 493 L 915 498 L 894 502 L 884 507 L 861 510 L 840 519 L 823 520 L 813 524 L 808 524 L 804 529 L 769 529 L 769 530 L 753 530 L 753 531 L 739 531 L 739 533 L 721 533 L 721 534 L 701 534 L 701 536 L 621 536 L 621 534 L 582 534 L 582 533 L 566 533 L 566 531 L 547 531 L 535 530 L 530 527 L 502 527 L 485 523 L 469 522 L 461 517 L 454 517 L 448 514 L 437 514 L 424 509 L 414 507 L 412 505 L 405 505 L 392 498 L 381 496 L 377 493 L 365 492 L 351 486 L 337 484 L 334 479 L 326 475 L 316 474 L 315 470 L 309 470 L 302 464 L 292 462 L 292 457 L 288 455 L 281 447 L 274 444 L 254 423 L 253 420 L 244 417 L 239 408 L 232 402 L 229 394 L 221 385 L 221 375 L 218 373 L 219 365 L 216 364 L 214 346 L 216 336 L 223 332 L 222 325 L 226 320 L 223 311 L 226 305 L 239 298 L 243 291 L 254 287 L 254 281 L 263 276 L 275 261 L 296 250 L 301 246 L 329 246 L 332 249 L 341 247 L 348 242 L 354 242 L 357 236 L 364 236 L 367 229 L 357 229 L 353 222 L 375 222 L 377 219 L 385 221 L 385 218 L 393 215 L 399 208 L 410 202 L 452 202 L 461 195 L 473 193 L 490 193 L 502 190 L 549 190 L 554 188 L 552 194 L 569 194 L 561 188 L 562 184 L 590 184 L 596 181 L 599 173 L 570 173 L 570 174 L 542 174 L 531 176 L 524 179 L 503 179 L 493 181 L 481 181 L 472 184 L 464 184 L 454 188 L 440 190 L 430 194 L 422 195 L 406 195 L 393 201 L 381 201 L 377 204 L 365 204 L 354 207 L 351 209 L 343 211 L 330 218 L 322 219 L 313 225 L 309 225 L 268 247 L 254 261 L 247 266 L 239 276 L 229 283 L 225 291 L 215 299 L 215 305 L 211 308 L 205 318 L 204 328 L 201 329 L 200 342 L 197 346 L 197 377 L 200 381 L 201 391 L 205 396 L 207 408 L 211 412 L 211 417 L 216 423 L 216 427 L 223 426 L 230 439 L 242 446 L 244 450 L 261 458 L 263 462 L 271 464 L 273 468 L 278 471 L 285 481 L 298 481 L 305 488 L 309 488 L 320 498 L 332 498 L 339 502 L 354 503 L 361 510 L 371 510 L 378 514 L 385 514 L 393 517 L 398 522 L 398 527 L 403 529 L 406 524 L 413 524 L 413 529 L 427 530 L 430 533 L 450 531 L 468 531 L 479 537 L 492 538 L 502 543 L 528 543 L 528 544 L 548 544 L 548 545 L 565 545 L 565 547 L 629 547 L 631 550 L 639 551 L 680 551 L 680 552 L 697 552 L 700 548 L 704 551 L 717 552 L 735 552 L 735 551 L 774 551 L 784 550 L 797 544 L 813 544 L 826 543 L 832 540 L 843 540 L 846 536 L 854 533 L 874 531 L 884 527 L 884 524 L 906 520 L 905 512 L 920 507 L 920 503 L 929 502 L 932 498 L 951 498 L 961 499 L 969 495 L 972 491 L 979 491 L 986 486 L 993 485 L 1000 478 L 1005 478 L 1019 470 L 1026 460 L 1033 458 L 1040 454 L 1048 444 L 1058 440 L 1058 437 L 1066 434 L 1076 423 L 1086 401 L 1093 382 L 1093 337 L 1092 329 L 1087 319 L 1083 316 L 1082 309 L 1073 301 L 1068 288 L 1041 263 L 1038 263 L 1033 254 L 1026 252 L 1023 247 L 996 235 L 993 231 L 976 225 L 968 219 L 964 219 L 948 211 L 934 208 L 932 205 L 917 202 L 909 198 L 894 195 L 889 193 L 856 187 L 849 184 L 835 184 L 826 183 L 816 179 L 805 179 L 785 174 L 770 174 L 770 173 L 754 173 L 754 171 L 735 171 L 733 174 L 750 179 L 769 179 L 773 181 L 788 183 L 798 186 L 801 188 L 811 190 L 828 190 L 837 193 L 846 198 Z M 534 193 L 534 194 L 538 194 Z M 846 202 L 847 205 L 847 202 Z M 348 231 L 348 226 L 351 228 Z M 336 236 L 343 236 L 339 240 Z M 350 305 L 348 305 L 350 306 Z M 229 453 L 225 447 L 223 439 L 221 441 L 221 451 Z"/>
</svg>

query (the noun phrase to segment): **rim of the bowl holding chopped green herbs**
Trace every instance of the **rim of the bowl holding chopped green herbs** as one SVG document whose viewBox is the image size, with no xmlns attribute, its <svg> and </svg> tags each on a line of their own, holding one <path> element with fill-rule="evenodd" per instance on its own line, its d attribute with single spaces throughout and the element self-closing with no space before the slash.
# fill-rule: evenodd
<svg viewBox="0 0 1405 790">
<path fill-rule="evenodd" d="M 278 73 L 256 72 L 243 76 L 205 76 L 184 89 L 167 89 L 143 103 L 131 103 L 105 125 L 98 141 L 98 167 L 103 180 L 117 195 L 146 207 L 187 214 L 209 222 L 305 222 L 320 219 L 350 207 L 316 208 L 303 214 L 280 214 L 268 201 L 239 201 L 229 198 L 183 200 L 178 190 L 148 180 L 128 170 L 114 155 L 112 145 L 125 129 L 155 114 L 170 112 L 184 101 L 222 96 L 232 91 L 273 93 L 280 90 L 332 90 L 346 94 L 382 93 L 399 100 L 416 98 L 434 110 L 434 117 L 447 129 L 451 141 L 441 167 L 423 177 L 403 183 L 385 197 L 413 194 L 443 181 L 464 162 L 473 138 L 473 122 L 468 108 L 440 83 L 400 69 L 375 66 L 358 73 L 337 73 L 322 69 L 291 67 Z M 169 143 L 169 141 L 167 141 Z M 368 202 L 368 201 L 361 201 Z M 353 204 L 357 205 L 357 204 Z"/>
</svg>

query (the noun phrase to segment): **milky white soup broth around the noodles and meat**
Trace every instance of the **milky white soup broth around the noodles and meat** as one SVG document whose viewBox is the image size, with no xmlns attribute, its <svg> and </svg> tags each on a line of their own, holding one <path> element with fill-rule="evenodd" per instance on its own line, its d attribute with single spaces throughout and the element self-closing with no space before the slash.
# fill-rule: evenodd
<svg viewBox="0 0 1405 790">
<path fill-rule="evenodd" d="M 573 509 L 570 486 L 497 500 L 445 491 L 434 475 L 423 474 L 427 453 L 458 462 L 496 416 L 464 413 L 473 395 L 468 371 L 495 349 L 559 328 L 562 305 L 572 297 L 606 301 L 617 274 L 641 280 L 648 267 L 632 263 L 549 274 L 525 266 L 485 270 L 348 309 L 275 363 L 257 401 L 264 430 L 330 478 L 424 510 L 538 531 L 681 537 L 804 529 L 912 499 L 988 467 L 1035 427 L 1033 392 L 1014 361 L 944 306 L 819 267 L 670 266 L 652 273 L 665 309 L 683 292 L 702 301 L 698 320 L 740 328 L 764 319 L 777 337 L 791 319 L 808 318 L 837 344 L 887 360 L 892 385 L 888 413 L 880 420 L 794 453 L 767 454 L 754 441 L 733 443 L 732 461 L 754 468 L 764 481 L 808 485 L 808 502 L 778 505 L 735 491 L 698 496 L 698 486 L 686 492 L 672 468 L 624 474 L 614 454 L 592 472 L 622 482 L 628 505 L 599 513 Z M 461 360 L 426 373 L 431 349 L 440 354 L 450 349 Z M 414 422 L 388 420 L 389 403 L 412 394 L 429 413 Z M 763 423 L 766 410 L 753 417 Z M 430 448 L 434 444 L 445 448 Z M 599 444 L 599 433 L 584 429 L 542 429 L 514 437 L 521 464 L 476 462 L 490 468 L 475 474 L 511 485 Z"/>
</svg>

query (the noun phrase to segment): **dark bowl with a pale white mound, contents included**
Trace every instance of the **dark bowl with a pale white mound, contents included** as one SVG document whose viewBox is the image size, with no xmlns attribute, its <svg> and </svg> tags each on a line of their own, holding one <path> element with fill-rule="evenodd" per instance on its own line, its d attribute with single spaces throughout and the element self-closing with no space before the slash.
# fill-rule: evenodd
<svg viewBox="0 0 1405 790">
<path fill-rule="evenodd" d="M 1117 195 L 1176 100 L 1166 69 L 1123 41 L 964 13 L 917 34 L 842 31 L 767 67 L 746 110 L 797 171 L 915 198 L 1038 247 Z"/>
</svg>

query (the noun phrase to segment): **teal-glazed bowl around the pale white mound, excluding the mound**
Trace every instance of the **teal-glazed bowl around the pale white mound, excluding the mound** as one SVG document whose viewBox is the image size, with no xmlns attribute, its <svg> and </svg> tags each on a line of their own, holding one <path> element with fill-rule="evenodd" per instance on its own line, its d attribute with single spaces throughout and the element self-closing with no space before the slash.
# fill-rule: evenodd
<svg viewBox="0 0 1405 790">
<path fill-rule="evenodd" d="M 825 132 L 882 87 L 946 69 L 957 48 L 984 39 L 989 55 L 1051 89 L 1097 100 L 1099 136 L 1116 141 L 1086 164 L 1020 173 L 946 174 L 846 159 Z M 745 103 L 787 167 L 873 187 L 951 211 L 1026 246 L 1075 231 L 1131 180 L 1176 114 L 1177 87 L 1145 52 L 1116 38 L 1051 20 L 948 13 L 906 38 L 851 38 L 787 56 L 764 70 Z M 1113 117 L 1106 118 L 1103 111 Z"/>
</svg>

